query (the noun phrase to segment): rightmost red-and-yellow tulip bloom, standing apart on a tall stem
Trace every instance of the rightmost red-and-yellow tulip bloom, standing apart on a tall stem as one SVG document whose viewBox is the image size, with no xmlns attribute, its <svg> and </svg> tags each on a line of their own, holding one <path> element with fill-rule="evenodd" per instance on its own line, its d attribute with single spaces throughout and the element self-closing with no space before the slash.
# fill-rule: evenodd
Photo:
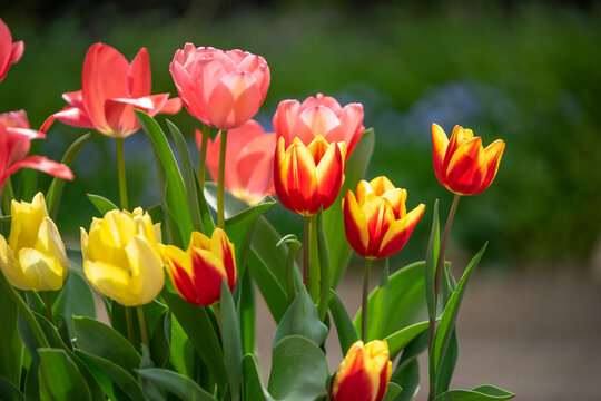
<svg viewBox="0 0 601 401">
<path fill-rule="evenodd" d="M 486 189 L 499 169 L 505 143 L 496 139 L 485 149 L 471 129 L 455 126 L 451 139 L 432 124 L 434 172 L 439 182 L 459 195 L 477 195 Z"/>
</svg>

